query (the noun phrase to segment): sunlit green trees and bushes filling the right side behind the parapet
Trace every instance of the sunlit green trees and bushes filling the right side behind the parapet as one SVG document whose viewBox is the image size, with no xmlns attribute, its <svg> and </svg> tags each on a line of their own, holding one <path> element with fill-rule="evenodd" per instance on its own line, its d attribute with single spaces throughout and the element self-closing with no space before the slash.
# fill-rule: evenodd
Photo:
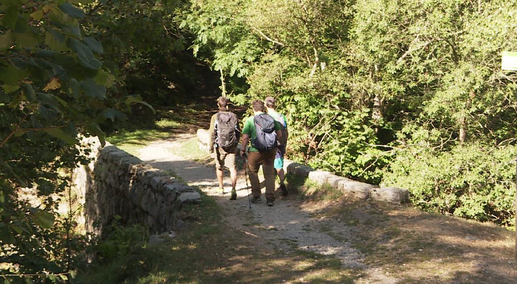
<svg viewBox="0 0 517 284">
<path fill-rule="evenodd" d="M 401 171 L 410 164 L 400 161 L 413 162 L 407 153 L 418 149 L 425 155 L 414 162 L 474 163 L 481 153 L 515 146 L 517 76 L 500 70 L 501 51 L 517 49 L 515 1 L 218 3 L 193 2 L 187 26 L 197 36 L 194 52 L 206 48 L 211 53 L 202 56 L 215 62 L 214 54 L 243 44 L 253 51 L 232 54 L 232 62 L 247 62 L 233 65 L 247 82 L 228 93 L 241 94 L 232 97 L 240 103 L 277 97 L 290 123 L 288 155 L 362 181 L 413 188 L 417 205 L 428 210 L 511 225 L 510 171 L 501 176 L 504 187 L 444 178 L 443 187 L 461 199 L 448 207 L 439 193 L 409 186 L 407 175 L 433 180 L 449 167 L 416 171 L 417 178 Z M 513 163 L 496 157 L 480 176 Z M 467 191 L 473 193 L 461 193 Z"/>
</svg>

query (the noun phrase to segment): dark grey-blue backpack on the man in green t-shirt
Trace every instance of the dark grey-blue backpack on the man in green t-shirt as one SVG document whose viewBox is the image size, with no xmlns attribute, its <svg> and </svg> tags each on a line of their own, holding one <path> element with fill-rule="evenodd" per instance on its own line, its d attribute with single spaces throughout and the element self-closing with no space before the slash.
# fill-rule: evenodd
<svg viewBox="0 0 517 284">
<path fill-rule="evenodd" d="M 277 147 L 277 132 L 275 131 L 275 118 L 267 113 L 255 115 L 253 118 L 257 138 L 251 141 L 251 145 L 258 152 L 270 151 Z"/>
</svg>

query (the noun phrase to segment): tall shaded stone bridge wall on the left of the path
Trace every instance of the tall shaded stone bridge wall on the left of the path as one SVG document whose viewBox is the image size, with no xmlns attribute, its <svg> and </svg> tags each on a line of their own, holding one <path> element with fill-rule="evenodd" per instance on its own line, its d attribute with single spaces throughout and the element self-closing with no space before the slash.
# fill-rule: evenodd
<svg viewBox="0 0 517 284">
<path fill-rule="evenodd" d="M 199 192 L 140 159 L 95 139 L 86 139 L 87 166 L 74 173 L 75 191 L 84 196 L 85 230 L 99 234 L 115 216 L 123 223 L 145 223 L 152 232 L 175 229 L 176 211 L 201 200 Z"/>
</svg>

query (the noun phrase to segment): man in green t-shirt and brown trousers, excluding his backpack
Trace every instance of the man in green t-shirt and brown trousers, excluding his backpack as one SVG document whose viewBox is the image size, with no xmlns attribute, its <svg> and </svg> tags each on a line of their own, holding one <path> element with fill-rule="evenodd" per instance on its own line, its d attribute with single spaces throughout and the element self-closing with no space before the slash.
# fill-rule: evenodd
<svg viewBox="0 0 517 284">
<path fill-rule="evenodd" d="M 255 116 L 261 115 L 268 116 L 268 114 L 264 113 L 264 102 L 261 100 L 252 101 L 251 106 L 253 107 L 254 115 L 246 119 L 244 128 L 242 128 L 242 147 L 240 149 L 240 154 L 241 156 L 246 154 L 246 145 L 248 144 L 248 140 L 251 137 L 251 146 L 249 148 L 247 165 L 251 182 L 251 202 L 261 202 L 261 189 L 260 181 L 258 181 L 258 168 L 260 168 L 262 165 L 262 172 L 264 173 L 264 179 L 266 183 L 266 204 L 267 206 L 273 206 L 273 202 L 275 202 L 275 169 L 273 168 L 273 161 L 275 160 L 276 148 L 271 148 L 271 150 L 263 152 L 259 152 L 257 148 L 255 148 L 255 144 L 257 142 L 257 129 L 254 123 L 254 118 Z M 274 120 L 274 118 L 270 116 L 268 117 L 274 123 L 277 139 L 281 139 L 282 127 L 277 121 Z"/>
</svg>

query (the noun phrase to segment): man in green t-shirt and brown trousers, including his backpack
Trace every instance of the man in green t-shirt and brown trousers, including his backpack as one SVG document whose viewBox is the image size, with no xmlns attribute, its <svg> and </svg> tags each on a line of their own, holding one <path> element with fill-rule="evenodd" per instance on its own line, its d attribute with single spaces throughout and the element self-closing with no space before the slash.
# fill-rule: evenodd
<svg viewBox="0 0 517 284">
<path fill-rule="evenodd" d="M 258 181 L 258 168 L 262 165 L 266 183 L 266 204 L 273 206 L 275 202 L 275 160 L 277 138 L 282 138 L 282 127 L 271 115 L 264 113 L 264 102 L 254 100 L 251 102 L 253 116 L 246 119 L 242 128 L 241 156 L 246 156 L 246 145 L 251 137 L 251 146 L 248 153 L 248 169 L 251 182 L 251 202 L 261 202 L 260 181 Z M 245 169 L 246 170 L 246 169 Z"/>
</svg>

